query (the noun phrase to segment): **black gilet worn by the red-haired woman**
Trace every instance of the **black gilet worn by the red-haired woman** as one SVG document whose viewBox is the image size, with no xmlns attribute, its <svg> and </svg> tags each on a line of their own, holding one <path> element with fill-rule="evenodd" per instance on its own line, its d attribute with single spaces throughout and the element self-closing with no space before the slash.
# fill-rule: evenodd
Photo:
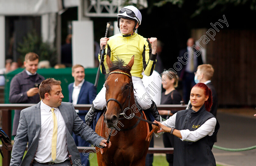
<svg viewBox="0 0 256 166">
<path fill-rule="evenodd" d="M 191 109 L 177 112 L 175 129 L 177 130 L 197 130 L 206 120 L 214 117 L 212 113 L 205 110 L 203 105 L 197 112 Z M 215 136 L 219 130 L 217 121 L 215 131 L 212 136 L 205 136 L 196 142 L 181 141 L 174 137 L 174 163 L 178 166 L 208 165 L 216 166 L 215 158 L 212 153 Z"/>
</svg>

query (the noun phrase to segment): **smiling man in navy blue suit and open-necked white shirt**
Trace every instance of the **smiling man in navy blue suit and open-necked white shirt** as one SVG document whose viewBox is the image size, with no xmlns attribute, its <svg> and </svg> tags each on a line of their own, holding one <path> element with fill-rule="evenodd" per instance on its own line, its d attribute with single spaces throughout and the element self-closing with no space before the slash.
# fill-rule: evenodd
<svg viewBox="0 0 256 166">
<path fill-rule="evenodd" d="M 84 67 L 82 65 L 74 65 L 72 67 L 72 76 L 75 82 L 69 84 L 69 102 L 73 104 L 91 104 L 97 95 L 97 89 L 94 85 L 84 80 Z M 85 121 L 88 110 L 76 110 L 78 116 Z M 83 140 L 80 136 L 73 134 L 76 146 L 89 146 L 90 143 Z M 80 153 L 82 165 L 89 166 L 89 155 L 85 156 Z"/>
</svg>

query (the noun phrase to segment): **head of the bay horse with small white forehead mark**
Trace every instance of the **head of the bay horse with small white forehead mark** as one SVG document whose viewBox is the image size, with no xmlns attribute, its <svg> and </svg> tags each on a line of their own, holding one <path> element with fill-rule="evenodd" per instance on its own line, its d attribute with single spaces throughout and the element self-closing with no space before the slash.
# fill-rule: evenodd
<svg viewBox="0 0 256 166">
<path fill-rule="evenodd" d="M 131 98 L 134 100 L 130 74 L 133 63 L 134 56 L 126 66 L 124 66 L 122 59 L 117 59 L 112 63 L 109 56 L 107 56 L 109 75 L 105 82 L 107 111 L 104 116 L 104 122 L 108 128 L 114 127 L 120 113 L 126 107 L 129 107 L 128 104 Z"/>
</svg>

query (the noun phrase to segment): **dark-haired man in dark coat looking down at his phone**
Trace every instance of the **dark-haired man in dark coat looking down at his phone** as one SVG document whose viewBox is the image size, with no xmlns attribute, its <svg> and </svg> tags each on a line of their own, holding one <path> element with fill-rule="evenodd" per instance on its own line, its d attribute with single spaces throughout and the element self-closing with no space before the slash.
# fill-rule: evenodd
<svg viewBox="0 0 256 166">
<path fill-rule="evenodd" d="M 27 53 L 25 56 L 25 69 L 16 74 L 10 84 L 9 102 L 10 103 L 38 103 L 40 96 L 38 87 L 45 80 L 43 76 L 37 73 L 39 56 L 36 53 Z M 20 111 L 15 110 L 12 136 L 16 136 L 19 125 Z"/>
</svg>

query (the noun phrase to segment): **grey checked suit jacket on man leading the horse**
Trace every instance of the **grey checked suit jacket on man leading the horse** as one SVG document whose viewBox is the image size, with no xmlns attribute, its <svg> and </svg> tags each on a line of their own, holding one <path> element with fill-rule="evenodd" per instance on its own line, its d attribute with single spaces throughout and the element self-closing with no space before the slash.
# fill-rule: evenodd
<svg viewBox="0 0 256 166">
<path fill-rule="evenodd" d="M 17 130 L 17 135 L 14 138 L 10 165 L 28 166 L 34 158 L 41 131 L 40 103 L 41 101 L 35 106 L 22 110 L 20 113 L 20 124 Z M 81 165 L 80 154 L 74 139 L 71 136 L 72 131 L 97 147 L 99 147 L 100 141 L 104 138 L 96 134 L 94 130 L 78 117 L 72 103 L 62 102 L 59 106 L 59 110 L 66 124 L 67 147 L 69 154 L 71 155 L 71 160 L 73 161 L 73 164 L 75 164 L 75 160 L 80 160 L 78 163 Z M 23 158 L 27 143 L 27 154 Z"/>
</svg>

